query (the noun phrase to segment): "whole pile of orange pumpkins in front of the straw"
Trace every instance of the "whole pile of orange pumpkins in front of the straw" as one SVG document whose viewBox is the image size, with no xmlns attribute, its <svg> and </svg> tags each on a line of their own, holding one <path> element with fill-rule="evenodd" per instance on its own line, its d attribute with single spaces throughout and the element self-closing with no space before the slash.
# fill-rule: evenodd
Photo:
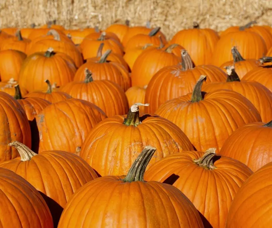
<svg viewBox="0 0 272 228">
<path fill-rule="evenodd" d="M 270 227 L 272 28 L 0 31 L 0 226 Z"/>
</svg>

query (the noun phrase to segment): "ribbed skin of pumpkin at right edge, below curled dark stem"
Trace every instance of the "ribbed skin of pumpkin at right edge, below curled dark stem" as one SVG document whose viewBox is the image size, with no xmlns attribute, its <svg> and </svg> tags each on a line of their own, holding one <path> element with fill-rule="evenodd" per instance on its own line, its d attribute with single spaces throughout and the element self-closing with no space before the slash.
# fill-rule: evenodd
<svg viewBox="0 0 272 228">
<path fill-rule="evenodd" d="M 252 80 L 261 83 L 272 92 L 272 70 L 269 68 L 256 68 L 245 74 L 243 80 Z"/>
</svg>

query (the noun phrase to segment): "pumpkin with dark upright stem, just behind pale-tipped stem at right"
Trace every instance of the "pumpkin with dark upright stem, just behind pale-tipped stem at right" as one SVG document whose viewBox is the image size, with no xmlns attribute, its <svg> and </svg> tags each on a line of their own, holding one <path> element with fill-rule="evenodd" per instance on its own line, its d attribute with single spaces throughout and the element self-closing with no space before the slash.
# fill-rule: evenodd
<svg viewBox="0 0 272 228">
<path fill-rule="evenodd" d="M 244 59 L 235 46 L 231 48 L 231 54 L 233 60 L 223 63 L 220 68 L 227 72 L 225 67 L 234 66 L 235 71 L 239 75 L 240 79 L 242 79 L 248 71 L 262 66 L 261 63 L 256 59 Z"/>
</svg>

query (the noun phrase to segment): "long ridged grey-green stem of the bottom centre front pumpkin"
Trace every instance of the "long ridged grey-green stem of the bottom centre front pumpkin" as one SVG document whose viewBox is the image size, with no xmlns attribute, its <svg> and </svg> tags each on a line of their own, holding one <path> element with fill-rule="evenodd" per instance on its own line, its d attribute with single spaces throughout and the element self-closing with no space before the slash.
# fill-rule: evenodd
<svg viewBox="0 0 272 228">
<path fill-rule="evenodd" d="M 155 151 L 156 148 L 152 146 L 146 146 L 133 162 L 131 168 L 128 170 L 128 174 L 123 179 L 123 181 L 144 181 L 144 172 L 146 171 L 146 167 L 150 162 L 152 156 L 154 155 Z"/>
</svg>

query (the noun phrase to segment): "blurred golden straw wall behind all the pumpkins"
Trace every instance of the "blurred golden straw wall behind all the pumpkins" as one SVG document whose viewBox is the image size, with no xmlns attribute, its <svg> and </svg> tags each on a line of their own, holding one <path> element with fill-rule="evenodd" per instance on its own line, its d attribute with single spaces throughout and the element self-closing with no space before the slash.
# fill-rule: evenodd
<svg viewBox="0 0 272 228">
<path fill-rule="evenodd" d="M 27 27 L 57 19 L 65 28 L 111 23 L 161 26 L 168 38 L 198 21 L 201 27 L 223 30 L 250 20 L 272 25 L 271 0 L 0 0 L 0 27 Z"/>
</svg>

